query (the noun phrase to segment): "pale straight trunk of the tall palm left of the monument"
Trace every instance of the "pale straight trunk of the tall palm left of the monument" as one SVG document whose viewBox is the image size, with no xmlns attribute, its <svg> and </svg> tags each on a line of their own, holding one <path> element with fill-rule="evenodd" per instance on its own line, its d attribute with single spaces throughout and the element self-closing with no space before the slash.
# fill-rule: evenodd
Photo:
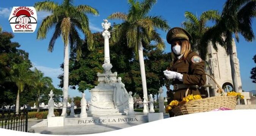
<svg viewBox="0 0 256 136">
<path fill-rule="evenodd" d="M 69 80 L 69 45 L 64 46 L 63 107 L 61 116 L 67 116 Z"/>
</svg>

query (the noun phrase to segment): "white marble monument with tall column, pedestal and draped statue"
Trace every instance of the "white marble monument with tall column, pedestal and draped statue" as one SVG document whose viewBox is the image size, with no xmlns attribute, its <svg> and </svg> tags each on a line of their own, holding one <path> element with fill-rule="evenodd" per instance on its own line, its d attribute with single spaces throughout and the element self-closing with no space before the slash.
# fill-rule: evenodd
<svg viewBox="0 0 256 136">
<path fill-rule="evenodd" d="M 108 20 L 104 20 L 102 27 L 104 28 L 102 32 L 104 37 L 104 64 L 102 65 L 104 73 L 97 73 L 99 84 L 90 90 L 91 100 L 88 114 L 126 114 L 128 93 L 121 82 L 121 78 L 116 79 L 117 73 L 111 72 L 112 64 L 110 63 L 108 41 L 110 38 L 110 32 L 108 31 L 110 23 L 108 23 Z"/>
</svg>

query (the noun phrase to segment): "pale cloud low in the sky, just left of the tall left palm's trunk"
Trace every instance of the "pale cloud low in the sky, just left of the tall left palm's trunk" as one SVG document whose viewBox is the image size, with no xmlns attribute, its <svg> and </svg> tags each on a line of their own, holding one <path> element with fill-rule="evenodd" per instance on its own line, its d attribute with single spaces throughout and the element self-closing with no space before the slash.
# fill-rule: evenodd
<svg viewBox="0 0 256 136">
<path fill-rule="evenodd" d="M 42 71 L 42 73 L 44 73 L 44 76 L 57 78 L 61 73 L 63 73 L 61 68 L 51 68 L 51 67 L 47 67 L 47 66 L 40 66 L 35 62 L 32 62 L 32 64 L 33 64 L 32 69 L 37 68 L 38 70 Z"/>
</svg>

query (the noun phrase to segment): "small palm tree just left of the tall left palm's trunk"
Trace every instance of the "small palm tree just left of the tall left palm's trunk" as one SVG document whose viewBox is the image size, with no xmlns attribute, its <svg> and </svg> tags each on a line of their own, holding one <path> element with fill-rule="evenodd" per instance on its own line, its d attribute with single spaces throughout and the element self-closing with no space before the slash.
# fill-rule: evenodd
<svg viewBox="0 0 256 136">
<path fill-rule="evenodd" d="M 38 90 L 38 99 L 37 99 L 37 112 L 39 112 L 39 102 L 40 102 L 40 90 L 44 89 L 45 87 L 51 87 L 52 85 L 52 79 L 50 77 L 45 77 L 44 73 L 42 73 L 40 70 L 35 68 L 33 71 L 33 82 L 35 84 L 34 88 Z"/>
</svg>

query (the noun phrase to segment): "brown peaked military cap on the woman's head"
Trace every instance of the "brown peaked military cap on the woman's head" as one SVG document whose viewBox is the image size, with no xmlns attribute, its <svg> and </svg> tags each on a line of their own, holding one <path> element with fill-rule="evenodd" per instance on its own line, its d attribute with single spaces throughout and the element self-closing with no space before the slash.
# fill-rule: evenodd
<svg viewBox="0 0 256 136">
<path fill-rule="evenodd" d="M 190 41 L 191 39 L 192 39 L 192 37 L 189 34 L 189 32 L 186 31 L 185 29 L 179 28 L 179 27 L 171 28 L 166 35 L 166 40 L 169 44 L 171 44 L 171 42 L 173 40 L 188 40 L 188 41 Z"/>
</svg>

